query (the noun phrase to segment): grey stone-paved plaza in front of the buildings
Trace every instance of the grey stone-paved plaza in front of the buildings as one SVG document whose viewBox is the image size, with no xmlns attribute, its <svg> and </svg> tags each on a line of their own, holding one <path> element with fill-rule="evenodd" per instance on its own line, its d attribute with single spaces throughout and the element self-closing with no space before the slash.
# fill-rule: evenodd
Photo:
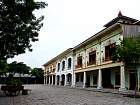
<svg viewBox="0 0 140 105">
<path fill-rule="evenodd" d="M 47 85 L 26 85 L 29 95 L 0 95 L 0 105 L 140 105 L 140 98 Z"/>
</svg>

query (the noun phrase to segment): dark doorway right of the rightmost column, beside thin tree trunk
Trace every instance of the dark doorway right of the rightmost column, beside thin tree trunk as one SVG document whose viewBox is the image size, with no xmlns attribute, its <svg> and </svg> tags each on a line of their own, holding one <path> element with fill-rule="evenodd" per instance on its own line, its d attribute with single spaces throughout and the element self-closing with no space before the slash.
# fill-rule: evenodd
<svg viewBox="0 0 140 105">
<path fill-rule="evenodd" d="M 130 87 L 129 87 L 129 89 L 134 90 L 135 87 L 136 87 L 136 73 L 130 72 L 129 76 L 130 76 Z"/>
</svg>

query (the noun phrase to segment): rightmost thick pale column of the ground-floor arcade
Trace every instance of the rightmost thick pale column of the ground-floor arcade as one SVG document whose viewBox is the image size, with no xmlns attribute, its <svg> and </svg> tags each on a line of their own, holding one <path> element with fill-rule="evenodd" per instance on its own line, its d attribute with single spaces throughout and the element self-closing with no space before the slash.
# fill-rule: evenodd
<svg viewBox="0 0 140 105">
<path fill-rule="evenodd" d="M 126 88 L 125 88 L 125 70 L 124 70 L 124 65 L 121 65 L 120 66 L 120 76 L 121 76 L 121 86 L 119 88 L 119 91 L 125 91 Z"/>
</svg>

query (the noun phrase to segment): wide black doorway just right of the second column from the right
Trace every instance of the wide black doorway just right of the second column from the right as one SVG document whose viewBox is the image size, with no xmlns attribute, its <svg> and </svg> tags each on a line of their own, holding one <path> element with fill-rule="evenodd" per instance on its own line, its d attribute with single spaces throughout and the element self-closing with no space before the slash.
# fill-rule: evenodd
<svg viewBox="0 0 140 105">
<path fill-rule="evenodd" d="M 103 88 L 113 88 L 111 84 L 111 71 L 109 69 L 102 70 L 102 86 Z"/>
</svg>

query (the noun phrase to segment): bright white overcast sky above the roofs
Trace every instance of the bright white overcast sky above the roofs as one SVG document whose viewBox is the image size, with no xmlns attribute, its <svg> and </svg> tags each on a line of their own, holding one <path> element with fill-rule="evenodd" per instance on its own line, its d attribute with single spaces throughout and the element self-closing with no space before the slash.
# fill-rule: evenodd
<svg viewBox="0 0 140 105">
<path fill-rule="evenodd" d="M 104 27 L 103 25 L 122 15 L 140 20 L 140 0 L 38 0 L 45 1 L 45 9 L 35 15 L 45 16 L 39 32 L 39 41 L 32 43 L 33 51 L 15 56 L 8 62 L 24 62 L 28 66 L 43 67 L 68 48 L 72 48 Z"/>
</svg>

